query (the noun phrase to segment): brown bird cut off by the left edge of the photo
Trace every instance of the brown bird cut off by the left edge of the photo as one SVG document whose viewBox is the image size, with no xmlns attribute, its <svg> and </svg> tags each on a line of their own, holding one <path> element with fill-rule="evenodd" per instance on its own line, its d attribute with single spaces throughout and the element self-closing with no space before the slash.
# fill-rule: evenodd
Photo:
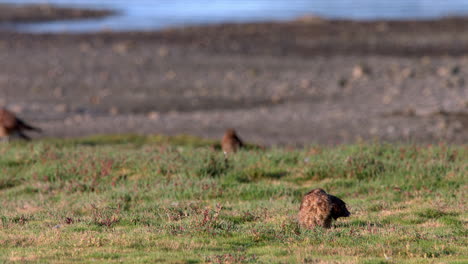
<svg viewBox="0 0 468 264">
<path fill-rule="evenodd" d="M 24 134 L 24 130 L 42 132 L 40 128 L 26 124 L 23 120 L 17 118 L 12 112 L 5 108 L 0 108 L 0 138 L 10 139 L 10 136 L 16 135 L 22 139 L 30 140 L 31 138 Z"/>
</svg>

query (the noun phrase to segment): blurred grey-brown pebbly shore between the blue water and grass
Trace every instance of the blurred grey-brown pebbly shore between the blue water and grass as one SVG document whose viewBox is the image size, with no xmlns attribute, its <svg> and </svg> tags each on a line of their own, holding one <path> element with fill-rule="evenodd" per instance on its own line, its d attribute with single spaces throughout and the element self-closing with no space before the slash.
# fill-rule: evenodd
<svg viewBox="0 0 468 264">
<path fill-rule="evenodd" d="M 235 127 L 261 144 L 468 142 L 468 20 L 0 33 L 0 104 L 48 137 Z"/>
</svg>

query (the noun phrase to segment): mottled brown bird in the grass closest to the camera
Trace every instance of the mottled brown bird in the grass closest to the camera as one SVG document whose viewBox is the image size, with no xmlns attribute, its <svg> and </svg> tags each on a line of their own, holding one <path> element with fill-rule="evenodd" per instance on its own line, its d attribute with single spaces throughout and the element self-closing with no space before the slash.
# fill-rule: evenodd
<svg viewBox="0 0 468 264">
<path fill-rule="evenodd" d="M 346 203 L 327 194 L 323 189 L 313 189 L 302 198 L 299 224 L 312 229 L 317 226 L 330 228 L 333 219 L 350 215 Z"/>
</svg>

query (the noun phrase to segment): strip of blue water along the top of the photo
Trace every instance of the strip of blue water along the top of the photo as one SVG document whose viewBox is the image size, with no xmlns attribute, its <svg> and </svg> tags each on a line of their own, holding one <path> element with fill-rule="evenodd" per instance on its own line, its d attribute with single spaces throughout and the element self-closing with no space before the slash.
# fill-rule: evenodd
<svg viewBox="0 0 468 264">
<path fill-rule="evenodd" d="M 468 15 L 468 0 L 0 0 L 113 9 L 118 15 L 82 21 L 9 25 L 28 32 L 154 30 L 220 22 L 289 20 L 314 14 L 356 20 Z"/>
</svg>

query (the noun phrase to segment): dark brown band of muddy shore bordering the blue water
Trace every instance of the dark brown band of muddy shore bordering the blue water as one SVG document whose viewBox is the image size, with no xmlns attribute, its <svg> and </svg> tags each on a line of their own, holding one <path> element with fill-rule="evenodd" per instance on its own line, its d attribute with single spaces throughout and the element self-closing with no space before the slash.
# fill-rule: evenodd
<svg viewBox="0 0 468 264">
<path fill-rule="evenodd" d="M 354 21 L 313 18 L 287 22 L 225 23 L 155 31 L 27 33 L 5 37 L 57 41 L 118 42 L 123 39 L 189 46 L 220 54 L 274 56 L 463 56 L 468 53 L 468 17 L 438 20 Z"/>
</svg>

